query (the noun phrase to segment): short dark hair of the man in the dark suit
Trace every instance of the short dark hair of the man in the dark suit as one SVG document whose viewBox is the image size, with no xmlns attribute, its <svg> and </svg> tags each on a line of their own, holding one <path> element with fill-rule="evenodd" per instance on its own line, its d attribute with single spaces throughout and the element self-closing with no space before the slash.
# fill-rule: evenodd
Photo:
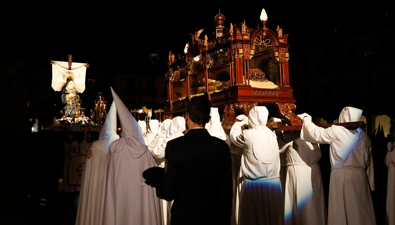
<svg viewBox="0 0 395 225">
<path fill-rule="evenodd" d="M 207 124 L 210 121 L 211 102 L 203 96 L 195 96 L 189 101 L 186 111 L 192 122 Z"/>
</svg>

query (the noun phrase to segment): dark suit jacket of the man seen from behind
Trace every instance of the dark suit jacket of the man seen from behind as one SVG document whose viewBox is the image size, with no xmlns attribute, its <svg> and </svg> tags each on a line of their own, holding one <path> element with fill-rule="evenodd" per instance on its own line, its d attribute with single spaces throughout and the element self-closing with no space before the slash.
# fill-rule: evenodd
<svg viewBox="0 0 395 225">
<path fill-rule="evenodd" d="M 167 142 L 164 185 L 158 197 L 174 200 L 171 225 L 230 224 L 232 172 L 229 146 L 207 129 L 191 129 Z"/>
</svg>

